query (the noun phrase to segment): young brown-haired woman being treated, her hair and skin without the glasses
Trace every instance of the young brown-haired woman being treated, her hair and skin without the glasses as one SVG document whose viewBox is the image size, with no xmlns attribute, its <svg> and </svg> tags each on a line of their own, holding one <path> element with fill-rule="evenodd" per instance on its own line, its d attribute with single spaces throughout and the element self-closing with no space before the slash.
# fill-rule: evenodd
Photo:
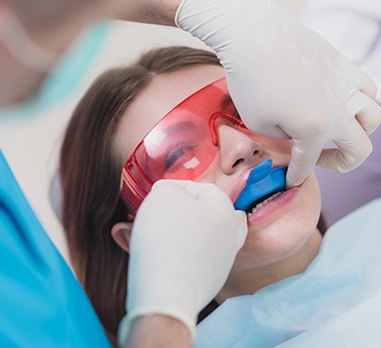
<svg viewBox="0 0 381 348">
<path fill-rule="evenodd" d="M 153 50 L 136 64 L 100 76 L 70 121 L 60 163 L 62 219 L 75 272 L 114 343 L 125 314 L 134 216 L 129 202 L 126 211 L 121 200 L 122 169 L 163 116 L 205 86 L 224 84 L 223 76 L 210 52 L 185 47 Z M 235 202 L 254 167 L 268 159 L 273 167 L 288 166 L 291 141 L 246 129 L 227 94 L 221 105 L 233 118 L 223 116 L 215 122 L 216 153 L 195 180 L 217 185 Z M 176 129 L 172 140 L 181 143 L 176 139 L 181 136 L 181 129 Z M 168 156 L 166 165 L 173 165 L 184 151 L 188 150 L 182 148 L 175 159 Z M 324 231 L 317 228 L 320 191 L 313 174 L 302 185 L 257 206 L 253 214 L 247 213 L 246 242 L 226 284 L 201 317 L 227 298 L 255 293 L 303 272 L 319 251 Z"/>
</svg>

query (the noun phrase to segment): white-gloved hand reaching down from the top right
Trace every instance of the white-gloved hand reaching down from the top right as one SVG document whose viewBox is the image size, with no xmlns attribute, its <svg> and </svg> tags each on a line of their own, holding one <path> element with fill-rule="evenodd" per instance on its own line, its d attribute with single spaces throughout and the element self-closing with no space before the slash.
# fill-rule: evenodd
<svg viewBox="0 0 381 348">
<path fill-rule="evenodd" d="M 346 172 L 368 157 L 374 83 L 276 1 L 184 0 L 176 24 L 216 51 L 247 127 L 293 139 L 288 186 L 316 162 Z M 331 140 L 338 148 L 322 151 Z"/>
</svg>

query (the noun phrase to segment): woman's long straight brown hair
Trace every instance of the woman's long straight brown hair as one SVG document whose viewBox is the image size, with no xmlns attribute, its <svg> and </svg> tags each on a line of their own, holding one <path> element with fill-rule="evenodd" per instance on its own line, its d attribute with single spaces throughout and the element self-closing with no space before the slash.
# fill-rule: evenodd
<svg viewBox="0 0 381 348">
<path fill-rule="evenodd" d="M 128 266 L 128 254 L 111 236 L 112 226 L 126 221 L 114 135 L 130 103 L 155 75 L 200 64 L 219 62 L 205 50 L 169 47 L 152 50 L 131 66 L 109 70 L 84 95 L 66 130 L 60 178 L 70 257 L 114 345 L 125 314 Z"/>
</svg>

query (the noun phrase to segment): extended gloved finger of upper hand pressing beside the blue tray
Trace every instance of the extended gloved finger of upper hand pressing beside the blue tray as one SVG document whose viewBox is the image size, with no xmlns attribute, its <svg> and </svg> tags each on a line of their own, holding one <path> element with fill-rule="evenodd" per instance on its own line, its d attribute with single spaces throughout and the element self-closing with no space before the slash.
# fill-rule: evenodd
<svg viewBox="0 0 381 348">
<path fill-rule="evenodd" d="M 316 140 L 294 140 L 291 149 L 291 160 L 287 169 L 286 187 L 300 185 L 311 173 L 316 164 L 322 145 Z"/>
</svg>

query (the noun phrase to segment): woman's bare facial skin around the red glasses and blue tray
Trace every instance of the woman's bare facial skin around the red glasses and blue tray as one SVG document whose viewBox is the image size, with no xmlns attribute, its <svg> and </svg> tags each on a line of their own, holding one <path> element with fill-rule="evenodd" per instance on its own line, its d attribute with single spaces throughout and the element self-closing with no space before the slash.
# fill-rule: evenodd
<svg viewBox="0 0 381 348">
<path fill-rule="evenodd" d="M 120 122 L 115 146 L 121 162 L 168 111 L 223 76 L 221 67 L 201 65 L 155 77 Z M 288 166 L 291 140 L 267 138 L 223 122 L 218 124 L 217 132 L 219 152 L 196 181 L 216 184 L 233 202 L 250 170 L 259 163 L 272 159 L 273 166 Z M 315 232 L 319 214 L 320 190 L 311 174 L 301 186 L 283 193 L 248 218 L 249 233 L 232 272 L 249 270 L 254 264 L 268 266 L 296 254 Z"/>
</svg>

